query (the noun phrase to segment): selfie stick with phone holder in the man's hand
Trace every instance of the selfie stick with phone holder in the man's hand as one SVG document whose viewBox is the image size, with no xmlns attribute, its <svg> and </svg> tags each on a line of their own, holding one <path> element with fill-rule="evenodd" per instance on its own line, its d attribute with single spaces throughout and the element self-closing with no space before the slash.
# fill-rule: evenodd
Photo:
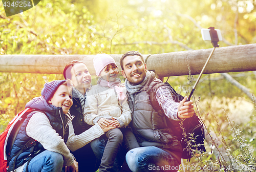
<svg viewBox="0 0 256 172">
<path fill-rule="evenodd" d="M 190 92 L 190 94 L 189 94 L 189 96 L 188 96 L 186 101 L 190 101 L 190 98 L 193 95 L 194 91 L 196 90 L 196 86 L 197 86 L 197 84 L 198 84 L 198 82 L 199 82 L 199 80 L 200 80 L 200 78 L 201 78 L 201 76 L 202 76 L 202 74 L 204 72 L 204 69 L 205 69 L 208 61 L 210 60 L 210 57 L 211 57 L 212 53 L 214 53 L 214 50 L 215 50 L 216 47 L 219 47 L 219 45 L 218 45 L 219 38 L 218 38 L 217 31 L 214 29 L 214 27 L 209 27 L 208 29 L 210 29 L 211 44 L 212 44 L 212 46 L 214 46 L 214 49 L 212 49 L 208 59 L 206 60 L 206 62 L 204 64 L 204 67 L 203 67 L 200 75 L 198 76 L 197 81 L 196 81 L 196 83 L 195 83 L 195 85 L 194 85 L 192 91 Z"/>
</svg>

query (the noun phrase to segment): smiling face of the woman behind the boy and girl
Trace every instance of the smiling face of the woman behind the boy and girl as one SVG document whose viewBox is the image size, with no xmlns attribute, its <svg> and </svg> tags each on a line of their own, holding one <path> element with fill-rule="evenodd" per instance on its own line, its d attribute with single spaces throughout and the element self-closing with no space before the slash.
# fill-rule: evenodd
<svg viewBox="0 0 256 172">
<path fill-rule="evenodd" d="M 81 93 L 91 87 L 92 77 L 83 63 L 76 63 L 71 69 L 71 81 Z"/>
</svg>

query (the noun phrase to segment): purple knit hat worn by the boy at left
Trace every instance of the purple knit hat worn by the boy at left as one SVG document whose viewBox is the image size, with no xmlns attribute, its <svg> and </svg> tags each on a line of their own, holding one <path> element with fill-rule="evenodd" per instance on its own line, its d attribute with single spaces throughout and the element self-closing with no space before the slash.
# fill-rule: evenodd
<svg viewBox="0 0 256 172">
<path fill-rule="evenodd" d="M 44 88 L 41 91 L 41 95 L 45 97 L 46 101 L 48 101 L 58 89 L 59 85 L 61 85 L 65 81 L 67 80 L 63 79 L 46 82 Z"/>
</svg>

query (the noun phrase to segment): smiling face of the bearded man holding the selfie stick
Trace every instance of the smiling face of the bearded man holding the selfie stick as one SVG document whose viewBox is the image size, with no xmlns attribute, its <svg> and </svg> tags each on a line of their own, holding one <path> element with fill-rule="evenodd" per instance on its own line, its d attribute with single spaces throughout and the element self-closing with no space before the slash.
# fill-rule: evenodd
<svg viewBox="0 0 256 172">
<path fill-rule="evenodd" d="M 140 84 L 146 76 L 146 64 L 143 63 L 138 55 L 126 56 L 123 59 L 122 75 L 132 85 Z"/>
</svg>

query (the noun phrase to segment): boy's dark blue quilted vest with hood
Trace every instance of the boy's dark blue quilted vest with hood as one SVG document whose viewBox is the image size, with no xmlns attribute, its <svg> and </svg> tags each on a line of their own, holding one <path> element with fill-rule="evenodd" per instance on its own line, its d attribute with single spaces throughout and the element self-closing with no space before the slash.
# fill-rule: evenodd
<svg viewBox="0 0 256 172">
<path fill-rule="evenodd" d="M 65 143 L 67 142 L 69 136 L 69 126 L 67 125 L 68 119 L 66 118 L 66 115 L 63 114 L 61 107 L 55 107 L 52 104 L 48 104 L 47 101 L 42 97 L 33 98 L 26 104 L 26 108 L 27 107 L 44 113 L 48 117 L 53 129 L 59 134 L 59 136 L 62 137 L 62 139 L 64 139 Z M 15 158 L 14 155 L 19 152 L 19 150 L 22 149 L 23 146 L 31 139 L 31 137 L 29 137 L 26 133 L 26 126 L 33 114 L 35 114 L 35 112 L 30 113 L 23 122 L 22 126 L 20 126 L 10 153 L 9 171 L 22 166 L 28 161 L 28 156 L 30 155 L 30 150 L 32 147 L 26 149 L 17 157 L 15 167 L 13 168 Z M 42 152 L 45 149 L 39 142 L 37 142 L 34 147 L 34 153 L 37 153 L 39 150 Z"/>
</svg>

